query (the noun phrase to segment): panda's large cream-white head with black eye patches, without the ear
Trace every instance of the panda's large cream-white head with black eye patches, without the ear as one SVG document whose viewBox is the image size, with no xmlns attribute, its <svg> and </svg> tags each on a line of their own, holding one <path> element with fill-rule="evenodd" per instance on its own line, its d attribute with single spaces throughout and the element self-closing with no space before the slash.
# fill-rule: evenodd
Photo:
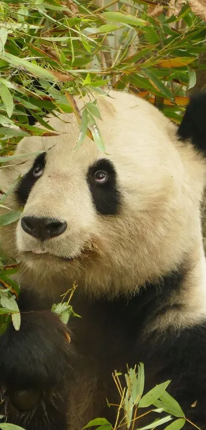
<svg viewBox="0 0 206 430">
<path fill-rule="evenodd" d="M 76 148 L 77 120 L 61 115 L 50 118 L 57 136 L 18 145 L 17 154 L 39 151 L 36 158 L 1 173 L 8 185 L 21 174 L 10 207 L 23 208 L 1 240 L 40 289 L 61 293 L 76 281 L 94 294 L 133 292 L 201 242 L 202 157 L 146 101 L 110 96 L 98 99 L 105 152 L 89 138 Z"/>
</svg>

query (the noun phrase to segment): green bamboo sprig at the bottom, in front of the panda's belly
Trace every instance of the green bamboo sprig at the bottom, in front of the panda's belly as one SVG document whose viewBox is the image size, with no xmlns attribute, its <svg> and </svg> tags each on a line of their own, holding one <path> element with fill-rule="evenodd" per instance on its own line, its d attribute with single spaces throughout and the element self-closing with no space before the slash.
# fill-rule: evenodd
<svg viewBox="0 0 206 430">
<path fill-rule="evenodd" d="M 184 427 L 188 419 L 185 417 L 177 401 L 166 391 L 170 381 L 156 385 L 152 390 L 143 395 L 145 384 L 143 363 L 138 365 L 138 371 L 136 371 L 136 366 L 128 368 L 128 373 L 125 374 L 126 385 L 121 383 L 121 376 L 122 374 L 117 371 L 113 373 L 113 379 L 120 395 L 120 404 L 116 405 L 118 410 L 115 426 L 112 426 L 104 418 L 96 418 L 89 421 L 82 430 L 95 426 L 97 426 L 96 430 L 117 430 L 121 427 L 126 427 L 128 430 L 149 430 L 159 426 L 162 429 L 163 424 L 169 421 L 171 423 L 167 424 L 166 427 L 164 426 L 165 430 L 180 430 L 180 428 Z M 108 406 L 111 405 L 108 404 Z M 146 409 L 146 412 L 144 409 Z M 151 418 L 150 420 L 151 414 L 152 416 L 154 414 L 161 415 L 161 418 Z M 140 427 L 139 421 L 141 425 L 141 419 L 146 416 L 148 418 L 147 424 Z M 191 421 L 189 422 L 192 426 L 199 429 Z"/>
</svg>

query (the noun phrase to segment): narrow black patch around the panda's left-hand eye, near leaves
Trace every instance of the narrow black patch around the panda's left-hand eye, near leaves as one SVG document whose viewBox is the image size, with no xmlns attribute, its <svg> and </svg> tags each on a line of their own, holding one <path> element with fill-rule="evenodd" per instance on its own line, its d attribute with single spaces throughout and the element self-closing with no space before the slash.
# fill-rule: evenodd
<svg viewBox="0 0 206 430">
<path fill-rule="evenodd" d="M 18 183 L 18 186 L 15 190 L 15 195 L 18 203 L 22 206 L 26 204 L 31 189 L 38 180 L 38 176 L 34 176 L 34 169 L 37 166 L 42 166 L 42 168 L 44 168 L 45 166 L 45 155 L 46 153 L 42 152 L 42 154 L 39 154 L 35 158 L 32 168 L 29 170 L 29 172 L 26 173 L 26 175 L 22 176 Z"/>
</svg>

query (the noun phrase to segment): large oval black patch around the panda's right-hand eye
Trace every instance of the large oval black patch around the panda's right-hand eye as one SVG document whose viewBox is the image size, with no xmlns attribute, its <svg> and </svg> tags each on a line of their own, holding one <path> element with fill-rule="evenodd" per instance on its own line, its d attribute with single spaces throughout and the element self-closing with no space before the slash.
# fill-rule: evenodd
<svg viewBox="0 0 206 430">
<path fill-rule="evenodd" d="M 106 173 L 105 181 L 98 181 L 98 177 Z M 96 174 L 98 172 L 98 174 Z M 121 195 L 118 190 L 117 174 L 112 162 L 106 158 L 98 160 L 89 167 L 87 173 L 87 183 L 93 198 L 96 210 L 102 215 L 116 215 L 118 213 Z"/>
</svg>

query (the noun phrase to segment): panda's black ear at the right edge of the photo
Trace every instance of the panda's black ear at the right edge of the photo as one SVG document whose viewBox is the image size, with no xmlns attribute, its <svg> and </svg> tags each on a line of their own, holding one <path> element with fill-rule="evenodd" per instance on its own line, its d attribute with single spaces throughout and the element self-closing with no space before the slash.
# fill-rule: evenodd
<svg viewBox="0 0 206 430">
<path fill-rule="evenodd" d="M 191 139 L 197 149 L 206 153 L 206 92 L 190 98 L 177 133 L 181 140 Z"/>
</svg>

